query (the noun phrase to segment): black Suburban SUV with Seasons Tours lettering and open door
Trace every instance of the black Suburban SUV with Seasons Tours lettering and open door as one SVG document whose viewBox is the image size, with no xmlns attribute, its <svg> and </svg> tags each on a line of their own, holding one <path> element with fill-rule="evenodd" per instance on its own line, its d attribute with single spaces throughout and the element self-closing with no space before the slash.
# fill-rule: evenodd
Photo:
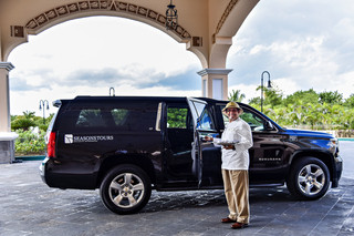
<svg viewBox="0 0 354 236">
<path fill-rule="evenodd" d="M 77 96 L 60 100 L 40 166 L 50 187 L 100 188 L 114 213 L 142 209 L 152 189 L 222 188 L 220 137 L 227 101 L 206 98 Z M 337 187 L 342 160 L 331 134 L 287 130 L 240 103 L 252 130 L 251 186 L 282 186 L 316 199 Z"/>
</svg>

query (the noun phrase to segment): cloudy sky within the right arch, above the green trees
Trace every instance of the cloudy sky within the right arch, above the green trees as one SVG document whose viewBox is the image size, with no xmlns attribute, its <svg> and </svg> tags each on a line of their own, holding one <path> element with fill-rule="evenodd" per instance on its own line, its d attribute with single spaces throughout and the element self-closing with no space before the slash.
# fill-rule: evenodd
<svg viewBox="0 0 354 236">
<path fill-rule="evenodd" d="M 267 70 L 285 94 L 337 90 L 347 98 L 353 93 L 353 11 L 351 0 L 260 1 L 233 39 L 229 84 L 247 81 L 257 88 Z"/>
</svg>

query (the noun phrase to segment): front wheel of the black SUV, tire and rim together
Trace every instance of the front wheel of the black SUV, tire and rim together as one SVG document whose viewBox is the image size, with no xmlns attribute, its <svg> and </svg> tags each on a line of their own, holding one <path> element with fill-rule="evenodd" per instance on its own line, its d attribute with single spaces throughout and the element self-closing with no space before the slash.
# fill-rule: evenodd
<svg viewBox="0 0 354 236">
<path fill-rule="evenodd" d="M 319 158 L 302 157 L 296 161 L 287 179 L 289 192 L 299 199 L 319 199 L 330 186 L 330 171 Z"/>
</svg>

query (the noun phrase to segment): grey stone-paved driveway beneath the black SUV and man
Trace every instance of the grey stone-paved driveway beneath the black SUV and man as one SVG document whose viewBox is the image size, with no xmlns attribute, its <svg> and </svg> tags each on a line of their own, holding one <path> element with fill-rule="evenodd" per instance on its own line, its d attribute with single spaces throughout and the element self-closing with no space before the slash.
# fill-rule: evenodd
<svg viewBox="0 0 354 236">
<path fill-rule="evenodd" d="M 354 142 L 343 148 L 344 163 Z M 250 227 L 221 224 L 222 191 L 153 192 L 135 215 L 115 215 L 98 191 L 54 189 L 38 174 L 40 161 L 0 165 L 0 235 L 353 235 L 354 178 L 344 167 L 339 188 L 312 202 L 294 201 L 285 188 L 250 191 Z"/>
</svg>

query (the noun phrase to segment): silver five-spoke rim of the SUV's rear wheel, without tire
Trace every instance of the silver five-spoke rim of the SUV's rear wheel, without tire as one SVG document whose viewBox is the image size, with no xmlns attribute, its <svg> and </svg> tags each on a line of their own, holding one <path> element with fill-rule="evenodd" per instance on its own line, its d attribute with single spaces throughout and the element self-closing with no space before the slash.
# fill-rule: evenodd
<svg viewBox="0 0 354 236">
<path fill-rule="evenodd" d="M 133 173 L 123 173 L 110 184 L 111 201 L 122 208 L 131 208 L 139 204 L 144 193 L 143 181 Z"/>
</svg>

